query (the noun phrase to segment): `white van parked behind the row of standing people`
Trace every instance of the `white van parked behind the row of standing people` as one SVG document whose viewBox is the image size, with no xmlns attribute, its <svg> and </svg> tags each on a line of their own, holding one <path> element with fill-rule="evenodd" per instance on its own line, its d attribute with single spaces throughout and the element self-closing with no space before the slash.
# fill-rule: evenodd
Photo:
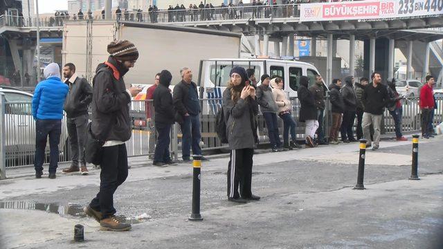
<svg viewBox="0 0 443 249">
<path fill-rule="evenodd" d="M 254 68 L 255 78 L 260 82 L 263 74 L 281 77 L 284 81 L 284 91 L 289 98 L 297 97 L 300 76 L 309 77 L 309 84 L 315 83 L 318 70 L 315 66 L 293 60 L 282 59 L 205 59 L 200 62 L 198 85 L 200 98 L 221 98 L 221 93 L 229 82 L 229 72 L 234 66 L 245 69 Z M 323 83 L 325 90 L 327 86 Z"/>
</svg>

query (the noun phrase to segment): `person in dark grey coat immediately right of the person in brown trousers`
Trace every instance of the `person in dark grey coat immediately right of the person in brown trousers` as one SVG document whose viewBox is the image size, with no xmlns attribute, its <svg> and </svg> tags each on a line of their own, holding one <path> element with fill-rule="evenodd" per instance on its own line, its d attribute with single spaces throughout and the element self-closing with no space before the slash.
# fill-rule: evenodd
<svg viewBox="0 0 443 249">
<path fill-rule="evenodd" d="M 352 127 L 354 126 L 357 100 L 354 91 L 354 76 L 345 77 L 345 85 L 341 88 L 345 109 L 343 110 L 343 122 L 341 123 L 340 133 L 343 142 L 356 142 Z"/>
</svg>

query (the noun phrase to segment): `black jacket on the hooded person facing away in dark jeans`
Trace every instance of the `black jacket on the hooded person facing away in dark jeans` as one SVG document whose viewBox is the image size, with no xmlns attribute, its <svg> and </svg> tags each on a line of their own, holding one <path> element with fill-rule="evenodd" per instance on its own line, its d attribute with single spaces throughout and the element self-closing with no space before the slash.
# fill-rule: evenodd
<svg viewBox="0 0 443 249">
<path fill-rule="evenodd" d="M 154 91 L 155 125 L 174 124 L 174 104 L 169 86 L 159 84 Z"/>
</svg>

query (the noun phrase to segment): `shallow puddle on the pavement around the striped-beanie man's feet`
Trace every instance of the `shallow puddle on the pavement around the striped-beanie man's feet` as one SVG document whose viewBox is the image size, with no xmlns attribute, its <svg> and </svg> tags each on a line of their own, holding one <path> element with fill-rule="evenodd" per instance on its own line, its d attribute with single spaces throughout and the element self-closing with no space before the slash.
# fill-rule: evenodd
<svg viewBox="0 0 443 249">
<path fill-rule="evenodd" d="M 28 201 L 4 201 L 0 202 L 0 209 L 14 210 L 39 210 L 52 214 L 71 215 L 84 218 L 87 215 L 83 212 L 83 206 L 78 204 L 59 205 L 57 203 L 30 203 Z M 147 219 L 136 219 L 135 217 L 127 217 L 124 215 L 117 216 L 120 221 L 130 224 L 138 224 L 147 221 Z"/>
</svg>

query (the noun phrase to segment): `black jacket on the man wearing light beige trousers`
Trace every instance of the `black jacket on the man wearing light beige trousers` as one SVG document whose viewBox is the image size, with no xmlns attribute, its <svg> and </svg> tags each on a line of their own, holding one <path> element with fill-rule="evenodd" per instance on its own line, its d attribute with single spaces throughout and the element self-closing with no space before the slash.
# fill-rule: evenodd
<svg viewBox="0 0 443 249">
<path fill-rule="evenodd" d="M 365 112 L 381 115 L 388 101 L 388 90 L 385 85 L 379 84 L 377 87 L 374 87 L 371 82 L 365 87 L 365 91 L 363 92 Z"/>
</svg>

